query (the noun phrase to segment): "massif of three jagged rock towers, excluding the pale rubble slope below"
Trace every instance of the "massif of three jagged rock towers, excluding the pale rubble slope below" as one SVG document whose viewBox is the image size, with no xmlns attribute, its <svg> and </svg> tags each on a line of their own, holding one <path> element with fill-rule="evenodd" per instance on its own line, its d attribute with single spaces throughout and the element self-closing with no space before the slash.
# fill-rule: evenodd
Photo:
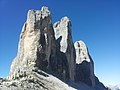
<svg viewBox="0 0 120 90">
<path fill-rule="evenodd" d="M 18 53 L 7 79 L 26 77 L 36 69 L 63 81 L 84 82 L 105 89 L 94 75 L 94 63 L 84 42 L 73 44 L 69 18 L 64 17 L 52 26 L 47 7 L 28 11 L 20 34 Z"/>
</svg>

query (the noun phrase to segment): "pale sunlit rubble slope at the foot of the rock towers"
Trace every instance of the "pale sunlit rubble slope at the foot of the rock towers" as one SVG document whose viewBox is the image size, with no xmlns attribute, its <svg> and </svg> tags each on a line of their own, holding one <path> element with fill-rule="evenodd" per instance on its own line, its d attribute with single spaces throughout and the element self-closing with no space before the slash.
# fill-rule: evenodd
<svg viewBox="0 0 120 90">
<path fill-rule="evenodd" d="M 76 90 L 59 79 L 41 70 L 29 72 L 26 77 L 6 80 L 0 84 L 0 90 Z"/>
</svg>

